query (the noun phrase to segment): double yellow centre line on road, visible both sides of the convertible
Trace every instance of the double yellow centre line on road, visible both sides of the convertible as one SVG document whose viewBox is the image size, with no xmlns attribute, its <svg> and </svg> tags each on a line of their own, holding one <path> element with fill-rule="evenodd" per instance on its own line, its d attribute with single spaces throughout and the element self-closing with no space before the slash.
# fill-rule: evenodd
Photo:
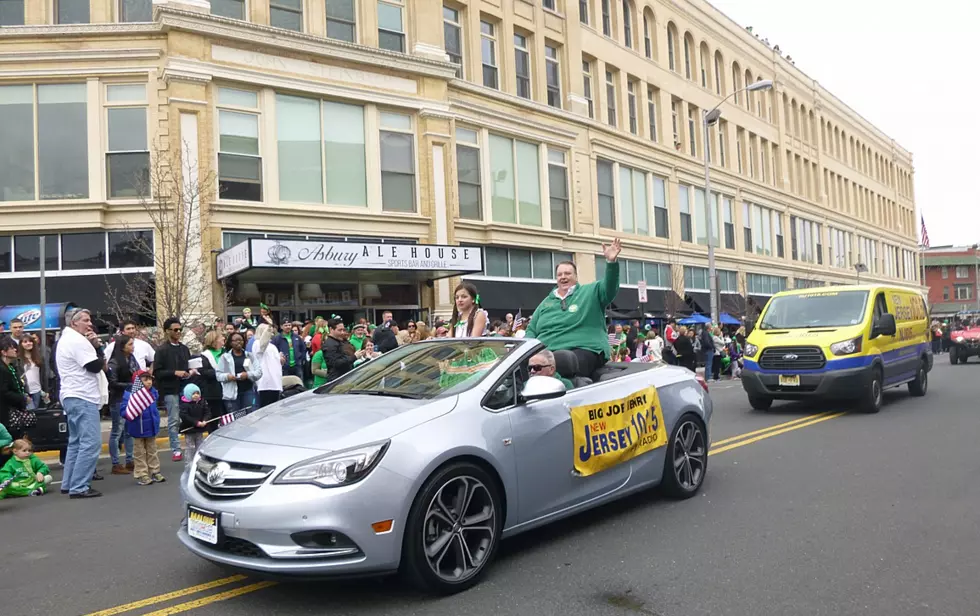
<svg viewBox="0 0 980 616">
<path fill-rule="evenodd" d="M 807 415 L 805 417 L 800 417 L 792 421 L 787 421 L 784 423 L 776 424 L 774 426 L 767 426 L 765 428 L 760 428 L 752 432 L 746 432 L 745 434 L 739 434 L 737 436 L 732 436 L 729 438 L 721 439 L 720 441 L 715 441 L 711 443 L 711 450 L 708 453 L 709 456 L 713 456 L 718 453 L 724 453 L 732 449 L 737 449 L 738 447 L 744 447 L 745 445 L 751 445 L 752 443 L 759 442 L 761 440 L 771 438 L 773 436 L 778 436 L 780 434 L 785 434 L 786 432 L 792 432 L 793 430 L 799 430 L 801 428 L 806 428 L 807 426 L 812 426 L 829 419 L 834 419 L 845 415 L 846 412 L 831 412 L 827 411 L 825 413 L 817 413 L 816 415 Z M 191 586 L 189 588 L 182 588 L 180 590 L 175 590 L 173 592 L 168 592 L 162 595 L 157 595 L 155 597 L 149 597 L 147 599 L 141 599 L 139 601 L 134 601 L 132 603 L 126 603 L 124 605 L 119 605 L 117 607 L 111 607 L 100 612 L 93 612 L 87 614 L 87 616 L 115 616 L 116 614 L 125 614 L 126 612 L 132 612 L 139 610 L 141 608 L 150 607 L 158 605 L 161 603 L 166 603 L 173 601 L 175 599 L 180 599 L 181 597 L 187 597 L 189 595 L 194 595 L 197 593 L 204 592 L 206 590 L 212 590 L 214 588 L 221 588 L 222 586 L 231 586 L 237 582 L 242 582 L 248 580 L 247 576 L 244 575 L 233 575 L 226 578 L 221 578 L 220 580 L 214 580 L 212 582 L 207 582 L 205 584 L 199 584 L 197 586 Z M 251 584 L 245 584 L 242 586 L 237 586 L 229 590 L 219 592 L 214 595 L 208 595 L 201 597 L 199 599 L 192 599 L 190 601 L 185 601 L 183 603 L 178 603 L 176 605 L 171 605 L 169 607 L 164 607 L 153 612 L 148 612 L 142 616 L 170 616 L 171 614 L 181 614 L 183 612 L 188 612 L 212 603 L 218 603 L 220 601 L 227 601 L 228 599 L 234 599 L 235 597 L 240 597 L 257 590 L 262 590 L 264 588 L 269 588 L 275 586 L 276 582 L 273 581 L 260 581 L 253 582 Z"/>
</svg>

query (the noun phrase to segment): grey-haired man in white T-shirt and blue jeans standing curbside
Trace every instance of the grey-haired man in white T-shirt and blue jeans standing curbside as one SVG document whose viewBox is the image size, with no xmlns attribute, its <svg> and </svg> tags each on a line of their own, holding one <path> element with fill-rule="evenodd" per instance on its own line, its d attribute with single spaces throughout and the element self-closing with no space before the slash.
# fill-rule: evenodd
<svg viewBox="0 0 980 616">
<path fill-rule="evenodd" d="M 67 320 L 68 327 L 61 332 L 55 354 L 61 378 L 61 405 L 68 420 L 68 453 L 61 492 L 71 498 L 95 498 L 102 496 L 90 483 L 102 453 L 99 375 L 105 368 L 105 354 L 102 341 L 92 329 L 88 310 L 73 310 Z"/>
</svg>

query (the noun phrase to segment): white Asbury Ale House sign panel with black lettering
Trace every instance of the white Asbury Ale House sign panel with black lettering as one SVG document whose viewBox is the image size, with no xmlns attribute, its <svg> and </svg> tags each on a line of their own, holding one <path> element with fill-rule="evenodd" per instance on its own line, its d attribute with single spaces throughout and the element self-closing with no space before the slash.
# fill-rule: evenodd
<svg viewBox="0 0 980 616">
<path fill-rule="evenodd" d="M 218 255 L 218 277 L 250 267 L 483 271 L 479 247 L 249 239 Z"/>
</svg>

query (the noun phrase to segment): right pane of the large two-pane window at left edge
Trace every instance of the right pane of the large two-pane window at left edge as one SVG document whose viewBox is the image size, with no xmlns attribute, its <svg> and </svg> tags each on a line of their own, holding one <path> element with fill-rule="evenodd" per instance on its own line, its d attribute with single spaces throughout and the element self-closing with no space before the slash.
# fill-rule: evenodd
<svg viewBox="0 0 980 616">
<path fill-rule="evenodd" d="M 84 83 L 37 86 L 37 166 L 41 199 L 87 199 L 89 196 L 86 101 Z M 9 117 L 4 117 L 4 123 L 9 121 Z"/>
</svg>

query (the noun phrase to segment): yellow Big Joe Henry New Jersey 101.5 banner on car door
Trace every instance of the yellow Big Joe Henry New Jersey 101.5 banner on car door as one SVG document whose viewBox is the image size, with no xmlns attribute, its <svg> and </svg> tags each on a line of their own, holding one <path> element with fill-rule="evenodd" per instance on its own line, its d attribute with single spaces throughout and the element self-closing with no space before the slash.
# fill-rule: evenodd
<svg viewBox="0 0 980 616">
<path fill-rule="evenodd" d="M 574 406 L 570 412 L 574 467 L 582 476 L 667 444 L 664 413 L 655 387 L 617 400 Z"/>
</svg>

